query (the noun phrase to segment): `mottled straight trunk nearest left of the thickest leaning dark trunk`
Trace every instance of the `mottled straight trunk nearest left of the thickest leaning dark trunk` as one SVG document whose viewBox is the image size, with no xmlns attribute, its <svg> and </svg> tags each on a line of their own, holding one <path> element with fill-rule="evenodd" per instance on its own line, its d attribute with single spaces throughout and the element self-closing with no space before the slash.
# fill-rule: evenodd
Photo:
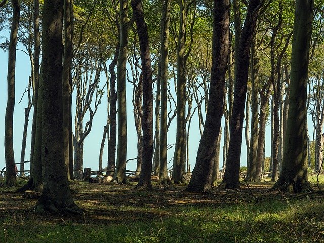
<svg viewBox="0 0 324 243">
<path fill-rule="evenodd" d="M 185 94 L 186 94 L 186 26 L 187 26 L 186 0 L 180 0 L 180 26 L 177 46 L 177 133 L 173 157 L 172 182 L 184 183 L 185 175 Z"/>
</svg>

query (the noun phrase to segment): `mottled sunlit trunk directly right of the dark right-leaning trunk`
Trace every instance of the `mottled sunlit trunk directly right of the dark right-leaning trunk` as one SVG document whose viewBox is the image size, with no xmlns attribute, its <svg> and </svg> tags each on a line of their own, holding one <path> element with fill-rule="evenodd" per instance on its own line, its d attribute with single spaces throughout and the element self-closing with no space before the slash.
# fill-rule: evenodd
<svg viewBox="0 0 324 243">
<path fill-rule="evenodd" d="M 247 180 L 251 181 L 257 171 L 257 151 L 259 136 L 259 58 L 256 37 L 251 45 L 251 140 L 247 163 Z"/>
</svg>

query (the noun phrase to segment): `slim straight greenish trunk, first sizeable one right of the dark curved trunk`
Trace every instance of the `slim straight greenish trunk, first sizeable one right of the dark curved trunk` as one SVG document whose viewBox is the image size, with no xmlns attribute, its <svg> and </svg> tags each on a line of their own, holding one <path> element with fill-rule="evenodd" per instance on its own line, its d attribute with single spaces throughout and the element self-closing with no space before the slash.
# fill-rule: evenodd
<svg viewBox="0 0 324 243">
<path fill-rule="evenodd" d="M 161 20 L 161 139 L 160 139 L 160 169 L 158 184 L 170 184 L 167 158 L 167 117 L 168 117 L 168 41 L 170 25 L 171 0 L 163 1 Z"/>
</svg>

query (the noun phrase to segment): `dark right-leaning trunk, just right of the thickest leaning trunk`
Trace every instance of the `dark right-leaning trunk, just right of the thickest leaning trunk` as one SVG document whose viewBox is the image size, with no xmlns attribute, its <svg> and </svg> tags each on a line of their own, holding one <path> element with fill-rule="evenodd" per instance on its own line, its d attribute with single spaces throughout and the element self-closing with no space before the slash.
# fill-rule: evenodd
<svg viewBox="0 0 324 243">
<path fill-rule="evenodd" d="M 235 60 L 235 87 L 233 112 L 230 121 L 230 141 L 226 161 L 226 170 L 221 186 L 225 188 L 239 188 L 239 168 L 242 145 L 242 129 L 247 93 L 250 49 L 252 36 L 262 1 L 249 1 L 246 19 L 239 40 L 238 57 Z"/>
</svg>

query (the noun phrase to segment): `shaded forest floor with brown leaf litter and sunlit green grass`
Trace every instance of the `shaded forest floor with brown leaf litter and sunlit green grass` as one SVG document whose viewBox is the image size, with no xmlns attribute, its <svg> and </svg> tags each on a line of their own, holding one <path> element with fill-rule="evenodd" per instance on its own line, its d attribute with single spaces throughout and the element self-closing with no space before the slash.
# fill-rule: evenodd
<svg viewBox="0 0 324 243">
<path fill-rule="evenodd" d="M 308 194 L 270 190 L 270 182 L 210 195 L 79 182 L 71 188 L 83 216 L 37 215 L 37 199 L 14 192 L 24 181 L 2 182 L 0 242 L 324 242 L 324 176 L 323 189 Z"/>
</svg>

